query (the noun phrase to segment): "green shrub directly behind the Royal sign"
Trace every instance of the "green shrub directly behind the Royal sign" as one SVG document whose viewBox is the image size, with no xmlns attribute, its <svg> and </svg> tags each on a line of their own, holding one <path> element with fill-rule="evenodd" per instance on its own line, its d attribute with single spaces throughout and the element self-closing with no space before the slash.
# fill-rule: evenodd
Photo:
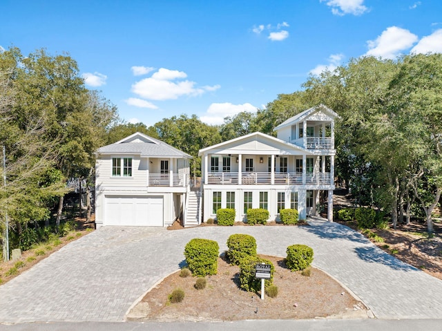
<svg viewBox="0 0 442 331">
<path fill-rule="evenodd" d="M 240 287 L 242 290 L 248 292 L 258 293 L 261 290 L 261 280 L 255 277 L 256 265 L 257 264 L 268 264 L 271 265 L 270 279 L 265 280 L 265 287 L 269 287 L 273 284 L 273 273 L 275 272 L 275 267 L 271 261 L 265 258 L 260 258 L 259 256 L 249 256 L 243 258 L 240 263 Z"/>
</svg>

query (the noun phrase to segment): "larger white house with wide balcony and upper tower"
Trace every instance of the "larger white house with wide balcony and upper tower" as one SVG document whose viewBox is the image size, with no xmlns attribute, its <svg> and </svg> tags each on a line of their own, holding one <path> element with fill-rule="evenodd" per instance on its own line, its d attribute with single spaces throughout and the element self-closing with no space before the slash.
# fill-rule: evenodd
<svg viewBox="0 0 442 331">
<path fill-rule="evenodd" d="M 321 104 L 276 126 L 277 138 L 256 132 L 201 149 L 204 220 L 220 208 L 236 209 L 236 221 L 249 208 L 269 210 L 269 220 L 294 208 L 305 219 L 323 193 L 332 221 L 336 117 Z"/>
</svg>

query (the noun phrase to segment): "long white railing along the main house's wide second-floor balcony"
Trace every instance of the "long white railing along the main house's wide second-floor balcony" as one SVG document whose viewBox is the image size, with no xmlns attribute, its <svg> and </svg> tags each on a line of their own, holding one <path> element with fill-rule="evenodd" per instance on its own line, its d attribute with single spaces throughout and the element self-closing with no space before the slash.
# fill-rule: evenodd
<svg viewBox="0 0 442 331">
<path fill-rule="evenodd" d="M 209 185 L 238 185 L 239 173 L 209 172 L 207 173 L 207 184 Z M 325 184 L 331 183 L 330 173 L 307 173 L 305 183 Z M 269 185 L 271 184 L 271 173 L 247 172 L 241 173 L 242 185 Z M 274 173 L 274 185 L 302 185 L 302 173 Z"/>
</svg>

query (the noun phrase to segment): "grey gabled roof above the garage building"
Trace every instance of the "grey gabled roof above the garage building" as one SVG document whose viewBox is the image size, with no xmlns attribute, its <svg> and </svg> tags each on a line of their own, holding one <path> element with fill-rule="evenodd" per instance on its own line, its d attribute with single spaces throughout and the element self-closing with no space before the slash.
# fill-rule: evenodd
<svg viewBox="0 0 442 331">
<path fill-rule="evenodd" d="M 114 144 L 99 148 L 97 154 L 128 154 L 153 158 L 192 158 L 191 155 L 140 132 L 133 133 L 133 135 L 129 135 Z"/>
</svg>

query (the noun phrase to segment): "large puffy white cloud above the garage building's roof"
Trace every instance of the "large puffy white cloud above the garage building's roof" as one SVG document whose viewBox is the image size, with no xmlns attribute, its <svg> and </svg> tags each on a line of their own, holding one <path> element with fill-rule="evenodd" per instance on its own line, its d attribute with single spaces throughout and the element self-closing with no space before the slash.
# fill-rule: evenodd
<svg viewBox="0 0 442 331">
<path fill-rule="evenodd" d="M 215 91 L 220 85 L 196 87 L 196 83 L 186 78 L 183 71 L 160 68 L 151 77 L 132 85 L 132 92 L 147 100 L 175 100 L 181 96 L 194 97 L 206 91 Z"/>
</svg>

